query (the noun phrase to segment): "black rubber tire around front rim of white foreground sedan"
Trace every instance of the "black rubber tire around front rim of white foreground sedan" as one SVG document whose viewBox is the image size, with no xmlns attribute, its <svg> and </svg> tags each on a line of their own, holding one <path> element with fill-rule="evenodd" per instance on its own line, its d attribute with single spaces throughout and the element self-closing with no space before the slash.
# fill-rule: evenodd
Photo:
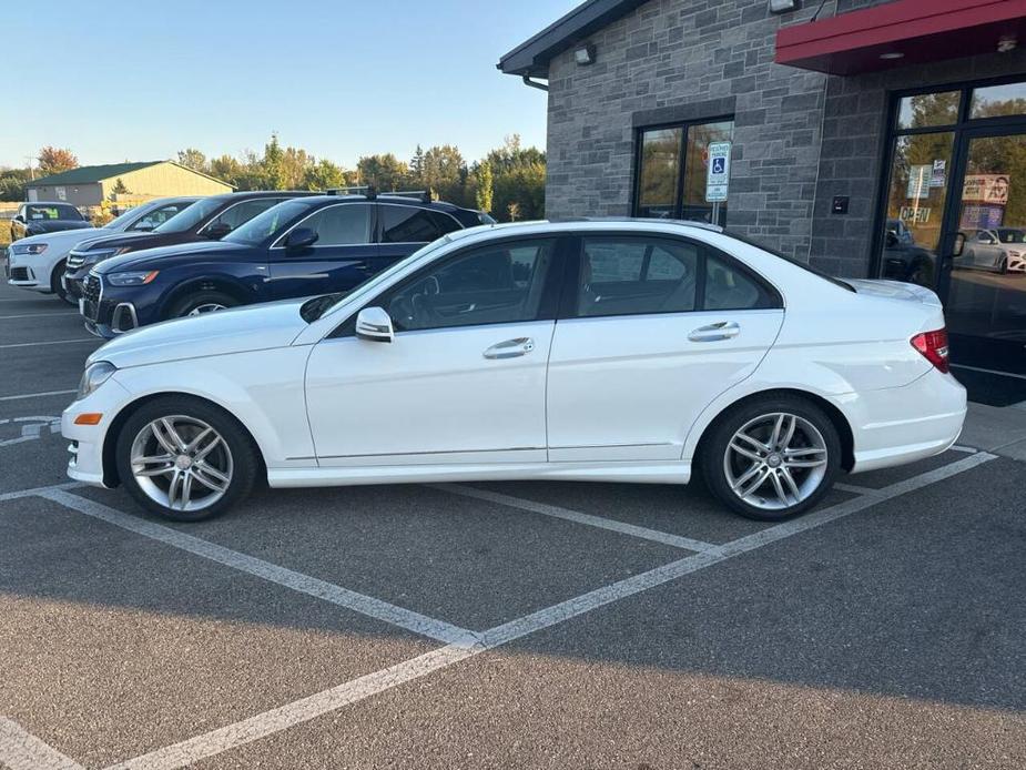
<svg viewBox="0 0 1026 770">
<path fill-rule="evenodd" d="M 214 428 L 231 453 L 232 476 L 223 496 L 197 510 L 177 510 L 150 497 L 132 473 L 132 444 L 143 428 L 155 419 L 169 416 L 200 419 Z M 129 494 L 151 514 L 174 521 L 201 521 L 220 516 L 253 489 L 263 468 L 260 449 L 237 419 L 219 406 L 190 396 L 163 396 L 143 404 L 121 426 L 114 449 L 118 476 Z"/>
</svg>

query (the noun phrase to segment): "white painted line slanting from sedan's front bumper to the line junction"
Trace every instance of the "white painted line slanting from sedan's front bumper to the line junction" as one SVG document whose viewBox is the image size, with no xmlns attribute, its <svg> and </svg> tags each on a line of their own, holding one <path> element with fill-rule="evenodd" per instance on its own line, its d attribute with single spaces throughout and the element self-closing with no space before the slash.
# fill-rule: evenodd
<svg viewBox="0 0 1026 770">
<path fill-rule="evenodd" d="M 459 628 L 444 620 L 436 620 L 426 615 L 420 615 L 403 607 L 375 599 L 373 596 L 357 594 L 347 588 L 342 588 L 335 584 L 321 580 L 309 575 L 296 573 L 286 567 L 280 567 L 270 561 L 264 561 L 255 556 L 248 556 L 224 546 L 219 546 L 209 540 L 203 540 L 185 533 L 180 533 L 171 527 L 165 527 L 153 521 L 129 516 L 120 510 L 115 510 L 102 503 L 69 495 L 61 489 L 48 488 L 37 493 L 39 497 L 59 503 L 68 508 L 79 513 L 92 516 L 101 521 L 106 521 L 115 527 L 128 529 L 129 531 L 149 537 L 152 540 L 159 540 L 169 546 L 189 551 L 195 556 L 202 556 L 204 559 L 216 561 L 226 567 L 232 567 L 241 573 L 254 575 L 270 582 L 291 588 L 299 594 L 306 594 L 316 599 L 329 601 L 333 605 L 345 607 L 354 612 L 366 615 L 377 620 L 383 620 L 393 626 L 405 628 L 414 634 L 426 636 L 438 641 L 445 641 L 455 645 L 474 644 L 476 637 L 466 628 Z"/>
</svg>

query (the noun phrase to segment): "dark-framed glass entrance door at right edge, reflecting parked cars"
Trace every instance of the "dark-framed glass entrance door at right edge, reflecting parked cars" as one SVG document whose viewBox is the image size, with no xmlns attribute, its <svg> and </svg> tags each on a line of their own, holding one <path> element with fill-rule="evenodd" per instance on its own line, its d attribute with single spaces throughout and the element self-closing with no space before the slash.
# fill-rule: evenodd
<svg viewBox="0 0 1026 770">
<path fill-rule="evenodd" d="M 952 358 L 1026 374 L 1026 129 L 959 139 L 953 230 L 962 253 L 941 276 Z"/>
</svg>

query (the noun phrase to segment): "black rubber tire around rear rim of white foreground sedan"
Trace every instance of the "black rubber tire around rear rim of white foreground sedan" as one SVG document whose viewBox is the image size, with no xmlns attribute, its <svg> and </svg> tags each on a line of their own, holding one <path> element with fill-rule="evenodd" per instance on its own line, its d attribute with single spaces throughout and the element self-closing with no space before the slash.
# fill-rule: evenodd
<svg viewBox="0 0 1026 770">
<path fill-rule="evenodd" d="M 732 489 L 727 475 L 727 452 L 734 434 L 763 415 L 785 413 L 807 421 L 819 430 L 826 450 L 826 464 L 819 486 L 801 501 L 779 509 L 766 509 L 741 499 Z M 766 394 L 751 398 L 722 414 L 702 439 L 699 457 L 702 477 L 709 490 L 731 510 L 760 521 L 782 521 L 799 516 L 815 506 L 830 492 L 841 467 L 841 438 L 830 417 L 806 398 L 791 394 Z M 806 472 L 796 472 L 804 474 Z M 811 474 L 811 472 L 807 472 Z M 739 479 L 740 480 L 740 479 Z M 801 483 L 801 482 L 800 482 Z M 768 483 L 769 484 L 769 483 Z"/>
</svg>

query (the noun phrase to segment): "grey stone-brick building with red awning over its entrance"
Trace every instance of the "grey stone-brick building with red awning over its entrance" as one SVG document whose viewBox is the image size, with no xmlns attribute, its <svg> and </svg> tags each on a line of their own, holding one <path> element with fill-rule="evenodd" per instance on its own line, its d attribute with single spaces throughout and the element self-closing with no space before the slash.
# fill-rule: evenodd
<svg viewBox="0 0 1026 770">
<path fill-rule="evenodd" d="M 549 217 L 715 221 L 915 281 L 965 365 L 1026 375 L 1026 1 L 588 0 L 498 67 L 548 91 Z"/>
</svg>

